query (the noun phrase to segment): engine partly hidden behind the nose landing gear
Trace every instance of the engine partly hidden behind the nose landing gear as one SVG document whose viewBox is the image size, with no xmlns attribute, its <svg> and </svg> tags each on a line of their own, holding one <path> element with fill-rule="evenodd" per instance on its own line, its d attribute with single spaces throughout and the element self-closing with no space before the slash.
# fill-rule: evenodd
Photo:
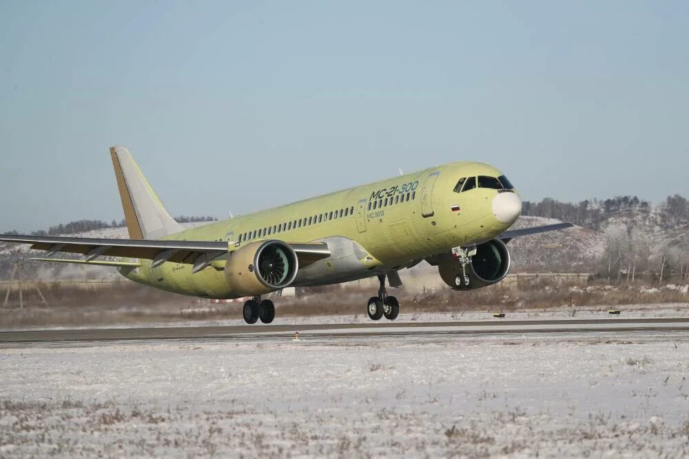
<svg viewBox="0 0 689 459">
<path fill-rule="evenodd" d="M 510 251 L 500 239 L 476 246 L 476 255 L 466 265 L 469 284 L 464 281 L 462 264 L 449 253 L 438 255 L 438 273 L 445 284 L 454 290 L 471 290 L 502 281 L 510 270 Z"/>
</svg>

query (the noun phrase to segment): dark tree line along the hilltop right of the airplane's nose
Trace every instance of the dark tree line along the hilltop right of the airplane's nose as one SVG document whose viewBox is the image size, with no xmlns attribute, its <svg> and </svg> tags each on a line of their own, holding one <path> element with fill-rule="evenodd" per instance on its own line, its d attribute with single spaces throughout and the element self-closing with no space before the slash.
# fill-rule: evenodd
<svg viewBox="0 0 689 459">
<path fill-rule="evenodd" d="M 653 208 L 650 202 L 636 196 L 616 196 L 606 200 L 586 200 L 578 204 L 559 202 L 545 198 L 541 202 L 524 201 L 522 215 L 528 217 L 555 218 L 598 231 L 601 225 L 618 213 L 656 212 L 668 224 L 686 224 L 689 221 L 689 202 L 681 195 L 668 196 L 664 202 Z"/>
</svg>

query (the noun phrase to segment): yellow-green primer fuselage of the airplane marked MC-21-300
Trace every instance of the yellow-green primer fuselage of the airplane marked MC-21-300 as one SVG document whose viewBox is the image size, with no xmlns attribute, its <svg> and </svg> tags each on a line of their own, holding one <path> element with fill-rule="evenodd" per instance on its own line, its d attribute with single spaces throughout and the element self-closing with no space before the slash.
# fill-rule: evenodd
<svg viewBox="0 0 689 459">
<path fill-rule="evenodd" d="M 447 253 L 455 246 L 478 244 L 506 231 L 513 221 L 502 222 L 493 212 L 493 200 L 499 191 L 489 188 L 453 191 L 459 178 L 478 175 L 499 177 L 502 173 L 488 164 L 453 162 L 190 228 L 166 239 L 227 241 L 232 250 L 258 240 L 325 241 L 336 250 L 329 259 L 305 268 L 305 274 L 298 275 L 294 285 L 362 279 L 404 267 L 413 260 Z M 334 213 L 336 218 L 332 216 Z M 140 262 L 140 268 L 122 268 L 120 272 L 141 284 L 184 295 L 238 296 L 229 289 L 220 266 L 222 262 L 194 274 L 189 264 L 166 262 L 152 268 L 152 261 L 141 259 Z"/>
</svg>

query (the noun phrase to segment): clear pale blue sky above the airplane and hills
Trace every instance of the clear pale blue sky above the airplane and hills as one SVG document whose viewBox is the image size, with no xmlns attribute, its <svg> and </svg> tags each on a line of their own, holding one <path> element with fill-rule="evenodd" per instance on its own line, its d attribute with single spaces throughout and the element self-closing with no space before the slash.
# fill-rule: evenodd
<svg viewBox="0 0 689 459">
<path fill-rule="evenodd" d="M 0 231 L 121 219 L 108 147 L 226 217 L 453 160 L 686 191 L 686 1 L 2 1 Z"/>
</svg>

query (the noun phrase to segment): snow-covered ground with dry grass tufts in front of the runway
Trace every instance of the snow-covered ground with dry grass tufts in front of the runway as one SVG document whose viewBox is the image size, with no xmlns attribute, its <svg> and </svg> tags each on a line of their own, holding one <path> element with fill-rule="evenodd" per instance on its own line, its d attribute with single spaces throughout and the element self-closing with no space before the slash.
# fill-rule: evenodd
<svg viewBox="0 0 689 459">
<path fill-rule="evenodd" d="M 689 454 L 689 337 L 5 346 L 0 456 Z"/>
</svg>

